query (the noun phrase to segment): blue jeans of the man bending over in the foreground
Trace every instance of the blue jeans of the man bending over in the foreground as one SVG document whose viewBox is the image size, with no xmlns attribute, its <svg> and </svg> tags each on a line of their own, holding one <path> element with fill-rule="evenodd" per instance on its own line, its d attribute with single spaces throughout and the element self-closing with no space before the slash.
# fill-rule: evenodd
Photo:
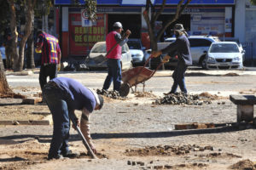
<svg viewBox="0 0 256 170">
<path fill-rule="evenodd" d="M 67 154 L 70 122 L 68 116 L 67 93 L 63 93 L 61 88 L 56 88 L 46 84 L 43 88 L 43 97 L 52 114 L 54 129 L 51 139 L 48 157 L 55 157 L 60 154 Z"/>
</svg>

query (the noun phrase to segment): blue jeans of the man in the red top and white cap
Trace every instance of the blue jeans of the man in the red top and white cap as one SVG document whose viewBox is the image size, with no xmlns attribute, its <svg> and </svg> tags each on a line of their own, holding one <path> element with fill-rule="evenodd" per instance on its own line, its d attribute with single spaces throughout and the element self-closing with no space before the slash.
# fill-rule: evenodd
<svg viewBox="0 0 256 170">
<path fill-rule="evenodd" d="M 108 59 L 108 76 L 103 84 L 103 89 L 108 90 L 113 82 L 113 90 L 119 91 L 122 81 L 122 70 L 120 59 Z"/>
</svg>

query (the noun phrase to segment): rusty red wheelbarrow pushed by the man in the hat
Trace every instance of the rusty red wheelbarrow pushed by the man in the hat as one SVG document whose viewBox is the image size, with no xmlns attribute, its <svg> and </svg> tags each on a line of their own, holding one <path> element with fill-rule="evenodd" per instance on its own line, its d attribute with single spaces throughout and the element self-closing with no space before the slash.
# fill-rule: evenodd
<svg viewBox="0 0 256 170">
<path fill-rule="evenodd" d="M 157 71 L 160 66 L 163 64 L 163 62 L 160 63 L 160 65 L 157 66 L 157 68 L 152 71 L 145 66 L 148 64 L 149 59 L 152 58 L 152 55 L 146 60 L 145 64 L 143 66 L 137 66 L 135 68 L 132 68 L 128 71 L 122 72 L 122 81 L 123 83 L 120 86 L 119 94 L 122 97 L 125 97 L 129 94 L 130 88 L 135 86 L 135 92 L 137 88 L 137 84 L 143 83 L 143 91 L 145 88 L 145 82 L 154 76 L 155 71 Z M 131 88 L 132 89 L 132 88 Z"/>
</svg>

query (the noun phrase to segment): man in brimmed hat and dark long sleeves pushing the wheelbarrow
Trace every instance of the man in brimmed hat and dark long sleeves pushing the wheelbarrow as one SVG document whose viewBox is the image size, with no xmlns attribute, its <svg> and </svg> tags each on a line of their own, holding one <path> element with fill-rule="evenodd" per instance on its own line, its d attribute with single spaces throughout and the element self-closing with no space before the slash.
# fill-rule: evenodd
<svg viewBox="0 0 256 170">
<path fill-rule="evenodd" d="M 177 55 L 177 67 L 172 73 L 173 84 L 172 89 L 167 94 L 174 94 L 177 92 L 177 86 L 181 89 L 184 94 L 187 94 L 187 88 L 185 85 L 185 71 L 187 70 L 189 65 L 192 65 L 192 58 L 190 54 L 190 44 L 188 40 L 188 34 L 183 29 L 182 24 L 176 24 L 174 26 L 174 34 L 176 37 L 176 41 L 172 42 L 169 46 L 160 51 L 152 52 L 153 57 L 158 57 L 160 54 L 168 54 L 164 57 L 163 62 L 168 62 L 171 58 L 170 56 Z"/>
</svg>

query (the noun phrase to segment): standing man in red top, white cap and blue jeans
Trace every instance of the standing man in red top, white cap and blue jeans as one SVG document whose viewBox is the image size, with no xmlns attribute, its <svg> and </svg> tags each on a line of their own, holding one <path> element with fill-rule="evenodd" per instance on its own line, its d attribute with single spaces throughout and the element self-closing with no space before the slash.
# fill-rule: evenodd
<svg viewBox="0 0 256 170">
<path fill-rule="evenodd" d="M 130 30 L 125 31 L 125 37 L 121 37 L 120 33 L 123 31 L 123 26 L 120 22 L 113 24 L 113 31 L 109 32 L 106 37 L 106 47 L 108 59 L 108 76 L 103 84 L 103 90 L 108 90 L 113 82 L 113 90 L 119 92 L 122 81 L 121 72 L 121 57 L 122 46 L 128 42 L 128 37 L 131 34 Z M 116 45 L 117 44 L 117 45 Z"/>
</svg>

